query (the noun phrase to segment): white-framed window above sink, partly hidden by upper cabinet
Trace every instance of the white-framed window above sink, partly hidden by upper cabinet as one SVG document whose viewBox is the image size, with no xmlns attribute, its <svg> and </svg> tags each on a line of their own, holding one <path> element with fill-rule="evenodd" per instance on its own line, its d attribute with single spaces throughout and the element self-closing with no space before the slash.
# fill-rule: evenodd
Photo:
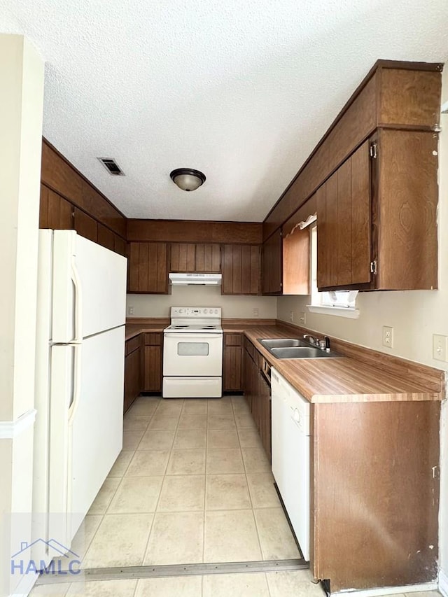
<svg viewBox="0 0 448 597">
<path fill-rule="evenodd" d="M 310 228 L 311 235 L 311 304 L 307 308 L 312 313 L 358 318 L 356 309 L 358 290 L 332 290 L 320 293 L 317 289 L 317 225 Z"/>
</svg>

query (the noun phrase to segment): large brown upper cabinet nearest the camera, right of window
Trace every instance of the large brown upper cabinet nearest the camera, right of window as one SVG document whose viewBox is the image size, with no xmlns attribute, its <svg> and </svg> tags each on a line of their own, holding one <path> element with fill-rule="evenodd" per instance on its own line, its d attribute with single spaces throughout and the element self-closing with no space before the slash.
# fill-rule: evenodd
<svg viewBox="0 0 448 597">
<path fill-rule="evenodd" d="M 318 188 L 320 290 L 437 288 L 437 136 L 378 129 Z"/>
</svg>

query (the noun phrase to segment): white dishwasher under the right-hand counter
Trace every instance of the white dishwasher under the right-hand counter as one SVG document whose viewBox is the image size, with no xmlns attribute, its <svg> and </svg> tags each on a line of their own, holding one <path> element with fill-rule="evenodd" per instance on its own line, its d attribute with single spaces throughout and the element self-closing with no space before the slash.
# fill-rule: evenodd
<svg viewBox="0 0 448 597">
<path fill-rule="evenodd" d="M 309 402 L 271 368 L 272 473 L 309 561 Z"/>
</svg>

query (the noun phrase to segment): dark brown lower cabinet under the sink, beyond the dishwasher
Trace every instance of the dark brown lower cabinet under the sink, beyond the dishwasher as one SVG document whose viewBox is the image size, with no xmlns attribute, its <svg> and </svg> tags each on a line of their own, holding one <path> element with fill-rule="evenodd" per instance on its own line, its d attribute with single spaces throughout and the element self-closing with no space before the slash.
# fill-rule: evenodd
<svg viewBox="0 0 448 597">
<path fill-rule="evenodd" d="M 270 461 L 271 388 L 262 374 L 262 356 L 247 339 L 244 348 L 244 395 Z"/>
</svg>

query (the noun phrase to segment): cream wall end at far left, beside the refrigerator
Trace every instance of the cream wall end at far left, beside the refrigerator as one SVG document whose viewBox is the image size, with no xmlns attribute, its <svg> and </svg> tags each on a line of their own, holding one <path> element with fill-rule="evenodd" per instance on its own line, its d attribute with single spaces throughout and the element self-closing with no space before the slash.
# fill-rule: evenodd
<svg viewBox="0 0 448 597">
<path fill-rule="evenodd" d="M 31 512 L 33 417 L 22 433 L 11 429 L 34 407 L 43 111 L 43 62 L 22 36 L 0 35 L 0 105 L 0 538 L 10 544 L 14 524 L 1 514 Z M 30 533 L 28 517 L 20 540 Z M 0 597 L 10 592 L 8 560 Z"/>
</svg>

